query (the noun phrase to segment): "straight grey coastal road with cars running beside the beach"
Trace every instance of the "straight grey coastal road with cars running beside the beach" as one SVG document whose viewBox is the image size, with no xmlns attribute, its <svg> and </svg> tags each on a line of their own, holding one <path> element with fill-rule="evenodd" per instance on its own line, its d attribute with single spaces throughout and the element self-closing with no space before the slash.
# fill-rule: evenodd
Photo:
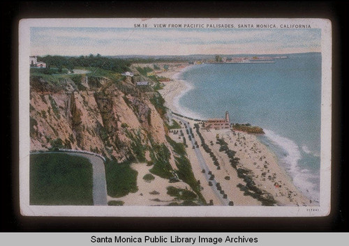
<svg viewBox="0 0 349 246">
<path fill-rule="evenodd" d="M 188 121 L 184 120 L 183 118 L 180 118 L 179 116 L 172 116 L 172 117 L 173 118 L 177 118 L 177 120 L 179 120 L 179 121 L 181 121 L 181 123 L 185 124 L 187 126 L 187 129 L 188 129 L 189 133 L 192 131 L 191 125 L 189 125 Z M 185 130 L 184 130 L 184 132 L 185 132 Z M 195 146 L 195 138 L 194 137 L 191 137 L 191 144 L 193 146 Z M 195 152 L 196 158 L 198 159 L 198 163 L 200 164 L 200 168 L 201 169 L 205 169 L 204 176 L 205 176 L 205 178 L 207 180 L 207 183 L 209 183 L 209 181 L 211 181 L 211 183 L 212 183 L 211 189 L 213 190 L 213 192 L 216 195 L 217 199 L 219 201 L 221 201 L 221 205 L 222 206 L 229 206 L 230 199 L 228 199 L 228 198 L 223 199 L 222 194 L 220 193 L 220 191 L 216 189 L 216 185 L 217 185 L 216 179 L 209 180 L 208 172 L 210 171 L 210 169 L 209 169 L 209 167 L 208 167 L 204 157 L 202 156 L 200 148 L 195 148 L 194 152 Z"/>
</svg>

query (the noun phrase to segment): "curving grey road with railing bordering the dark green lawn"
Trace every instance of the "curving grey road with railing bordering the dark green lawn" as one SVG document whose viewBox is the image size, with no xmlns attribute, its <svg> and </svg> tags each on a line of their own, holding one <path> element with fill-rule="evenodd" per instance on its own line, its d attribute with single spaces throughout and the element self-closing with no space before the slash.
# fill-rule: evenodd
<svg viewBox="0 0 349 246">
<path fill-rule="evenodd" d="M 58 154 L 68 154 L 75 155 L 80 157 L 85 157 L 89 159 L 92 164 L 93 170 L 93 198 L 95 206 L 107 206 L 107 183 L 105 180 L 105 167 L 104 160 L 98 155 L 93 153 L 80 153 L 80 152 L 70 152 L 70 151 L 52 151 L 52 152 L 43 152 L 43 153 L 58 153 Z M 36 154 L 36 153 L 32 153 Z M 42 154 L 42 153 L 40 153 Z"/>
</svg>

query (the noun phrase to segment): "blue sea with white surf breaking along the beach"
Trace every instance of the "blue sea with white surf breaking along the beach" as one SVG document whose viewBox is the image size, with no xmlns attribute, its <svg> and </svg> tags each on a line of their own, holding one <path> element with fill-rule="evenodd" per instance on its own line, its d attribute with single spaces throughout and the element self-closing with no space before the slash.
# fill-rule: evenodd
<svg viewBox="0 0 349 246">
<path fill-rule="evenodd" d="M 275 61 L 192 66 L 180 75 L 193 89 L 179 105 L 199 118 L 223 118 L 228 110 L 232 123 L 262 127 L 260 141 L 299 190 L 319 201 L 321 54 Z"/>
</svg>

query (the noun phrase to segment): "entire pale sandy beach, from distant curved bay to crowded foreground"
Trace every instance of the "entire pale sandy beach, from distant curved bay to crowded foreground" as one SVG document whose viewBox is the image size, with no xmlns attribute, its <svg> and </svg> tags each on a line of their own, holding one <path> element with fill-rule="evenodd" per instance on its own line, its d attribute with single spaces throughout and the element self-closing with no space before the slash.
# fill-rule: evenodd
<svg viewBox="0 0 349 246">
<path fill-rule="evenodd" d="M 179 97 L 188 90 L 189 86 L 184 80 L 176 79 L 179 75 L 179 70 L 169 70 L 164 72 L 161 76 L 172 79 L 170 82 L 165 82 L 164 88 L 160 91 L 165 99 L 165 106 L 177 112 L 179 111 L 178 100 Z M 181 118 L 177 118 L 180 121 Z M 183 118 L 193 127 L 195 121 Z M 184 125 L 182 125 L 184 130 Z M 185 130 L 184 130 L 185 132 Z M 205 159 L 207 167 L 215 176 L 216 182 L 220 183 L 221 189 L 227 194 L 229 201 L 233 201 L 235 206 L 261 206 L 262 203 L 249 195 L 244 193 L 244 190 L 237 187 L 246 186 L 243 178 L 239 178 L 237 169 L 245 169 L 249 171 L 249 178 L 253 180 L 255 187 L 262 190 L 264 194 L 272 197 L 276 206 L 309 206 L 311 201 L 299 192 L 288 174 L 279 166 L 278 160 L 274 153 L 262 144 L 254 134 L 247 134 L 246 132 L 236 132 L 230 129 L 225 130 L 205 130 L 200 129 L 202 136 L 206 143 L 211 143 L 209 148 L 216 155 L 220 163 L 220 169 L 214 165 L 213 160 L 208 153 L 200 146 L 200 138 L 194 130 L 195 140 L 199 142 L 199 149 Z M 178 136 L 171 135 L 173 139 Z M 229 162 L 229 157 L 224 152 L 220 152 L 220 145 L 216 144 L 216 137 L 223 139 L 228 148 L 236 152 L 236 157 L 239 158 L 237 169 L 234 169 Z M 188 134 L 185 134 L 188 139 Z M 177 139 L 178 141 L 178 139 Z M 188 140 L 187 140 L 188 141 Z M 198 164 L 198 157 L 195 156 L 191 144 L 188 144 L 186 151 L 189 160 L 193 167 L 195 178 L 200 180 L 202 186 L 202 194 L 208 201 L 212 200 L 214 205 L 222 205 L 220 199 L 215 195 L 215 187 L 209 186 L 207 182 L 207 174 L 202 173 L 202 167 Z M 228 178 L 229 177 L 229 180 Z M 314 205 L 314 204 L 312 204 Z"/>
</svg>

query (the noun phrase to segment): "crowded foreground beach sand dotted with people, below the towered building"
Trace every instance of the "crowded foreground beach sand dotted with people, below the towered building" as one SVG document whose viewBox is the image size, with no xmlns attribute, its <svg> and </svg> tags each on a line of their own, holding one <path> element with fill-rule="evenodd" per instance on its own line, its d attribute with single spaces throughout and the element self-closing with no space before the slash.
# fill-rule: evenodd
<svg viewBox="0 0 349 246">
<path fill-rule="evenodd" d="M 216 144 L 216 134 L 218 134 L 220 139 L 224 139 L 228 143 L 228 148 L 236 152 L 236 157 L 240 159 L 237 168 L 250 170 L 251 178 L 255 182 L 255 185 L 260 190 L 271 194 L 275 201 L 277 201 L 277 205 L 309 205 L 309 199 L 304 197 L 295 185 L 293 185 L 290 177 L 279 166 L 274 153 L 269 151 L 267 146 L 261 144 L 255 135 L 245 132 L 232 132 L 231 130 L 201 130 L 201 132 L 206 141 L 212 141 L 214 143 L 211 149 L 216 155 L 221 157 L 221 170 L 216 171 L 216 175 L 221 180 L 224 180 L 223 176 L 226 174 L 234 176 L 232 178 L 234 180 L 237 178 L 237 172 L 230 166 L 228 156 L 218 151 L 220 145 Z M 244 180 L 241 178 L 237 182 L 244 185 Z M 232 187 L 236 193 L 241 192 L 236 190 L 236 183 Z"/>
</svg>

